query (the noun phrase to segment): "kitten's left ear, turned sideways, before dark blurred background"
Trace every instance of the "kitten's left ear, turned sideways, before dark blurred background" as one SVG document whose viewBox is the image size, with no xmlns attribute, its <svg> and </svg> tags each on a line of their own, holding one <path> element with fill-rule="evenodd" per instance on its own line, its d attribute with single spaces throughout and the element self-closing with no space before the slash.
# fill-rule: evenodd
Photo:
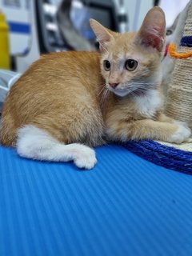
<svg viewBox="0 0 192 256">
<path fill-rule="evenodd" d="M 90 26 L 99 42 L 99 49 L 101 51 L 106 50 L 107 43 L 111 40 L 114 40 L 115 33 L 106 29 L 106 27 L 102 26 L 102 24 L 100 24 L 93 18 L 90 18 Z"/>
</svg>

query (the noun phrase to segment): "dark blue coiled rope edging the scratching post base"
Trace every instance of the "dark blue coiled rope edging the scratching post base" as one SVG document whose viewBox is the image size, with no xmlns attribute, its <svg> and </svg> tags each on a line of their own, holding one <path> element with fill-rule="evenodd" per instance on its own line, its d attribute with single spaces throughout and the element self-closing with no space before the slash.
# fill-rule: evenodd
<svg viewBox="0 0 192 256">
<path fill-rule="evenodd" d="M 125 142 L 122 146 L 158 166 L 192 174 L 192 152 L 164 146 L 154 141 Z"/>
</svg>

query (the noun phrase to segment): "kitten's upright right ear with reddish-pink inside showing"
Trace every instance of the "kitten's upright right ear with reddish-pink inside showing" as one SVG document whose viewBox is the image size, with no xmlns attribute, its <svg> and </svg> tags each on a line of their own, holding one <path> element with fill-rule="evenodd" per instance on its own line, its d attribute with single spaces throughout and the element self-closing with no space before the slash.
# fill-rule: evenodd
<svg viewBox="0 0 192 256">
<path fill-rule="evenodd" d="M 136 35 L 135 42 L 162 51 L 166 36 L 166 19 L 158 6 L 150 9 Z"/>
</svg>

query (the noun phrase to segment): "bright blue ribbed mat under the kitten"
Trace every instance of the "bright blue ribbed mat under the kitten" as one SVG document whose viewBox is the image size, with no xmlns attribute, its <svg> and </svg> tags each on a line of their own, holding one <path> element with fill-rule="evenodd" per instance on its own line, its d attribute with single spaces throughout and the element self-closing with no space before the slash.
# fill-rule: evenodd
<svg viewBox="0 0 192 256">
<path fill-rule="evenodd" d="M 122 146 L 94 170 L 0 147 L 1 256 L 190 256 L 192 176 Z"/>
</svg>

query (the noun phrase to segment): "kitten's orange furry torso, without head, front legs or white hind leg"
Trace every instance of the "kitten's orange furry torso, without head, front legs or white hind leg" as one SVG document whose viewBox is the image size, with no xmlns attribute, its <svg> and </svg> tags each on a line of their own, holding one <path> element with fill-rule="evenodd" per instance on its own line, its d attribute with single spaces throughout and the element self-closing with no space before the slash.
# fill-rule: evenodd
<svg viewBox="0 0 192 256">
<path fill-rule="evenodd" d="M 102 143 L 98 94 L 99 54 L 43 55 L 11 88 L 2 111 L 2 144 L 14 145 L 18 128 L 34 125 L 62 142 Z"/>
</svg>

